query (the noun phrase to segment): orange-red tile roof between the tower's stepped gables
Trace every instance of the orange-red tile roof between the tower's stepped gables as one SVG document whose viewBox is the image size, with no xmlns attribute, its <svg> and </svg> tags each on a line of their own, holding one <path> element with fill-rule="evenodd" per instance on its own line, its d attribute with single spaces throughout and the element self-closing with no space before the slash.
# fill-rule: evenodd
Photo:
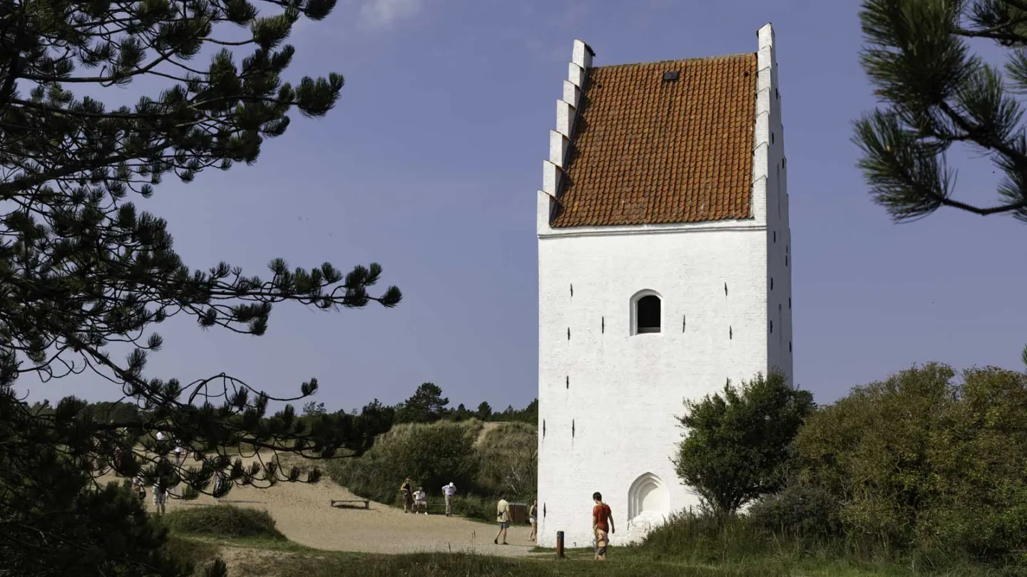
<svg viewBox="0 0 1027 577">
<path fill-rule="evenodd" d="M 755 125 L 755 53 L 588 69 L 551 226 L 752 218 Z"/>
</svg>

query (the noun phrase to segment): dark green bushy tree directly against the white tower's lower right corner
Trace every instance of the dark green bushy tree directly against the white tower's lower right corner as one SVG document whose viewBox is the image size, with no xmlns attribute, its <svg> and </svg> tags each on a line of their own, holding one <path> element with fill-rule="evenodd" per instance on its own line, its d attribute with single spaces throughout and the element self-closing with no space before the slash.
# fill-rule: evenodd
<svg viewBox="0 0 1027 577">
<path fill-rule="evenodd" d="M 686 400 L 678 476 L 711 512 L 733 513 L 784 486 L 789 445 L 813 408 L 812 394 L 789 386 L 778 372 Z"/>
</svg>

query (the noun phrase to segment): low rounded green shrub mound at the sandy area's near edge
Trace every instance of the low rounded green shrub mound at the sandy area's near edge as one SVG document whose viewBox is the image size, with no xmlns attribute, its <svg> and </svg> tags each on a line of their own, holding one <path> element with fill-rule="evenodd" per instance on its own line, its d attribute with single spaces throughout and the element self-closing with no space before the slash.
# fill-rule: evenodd
<svg viewBox="0 0 1027 577">
<path fill-rule="evenodd" d="M 210 505 L 174 510 L 163 516 L 163 523 L 175 533 L 211 535 L 215 537 L 263 537 L 284 540 L 274 518 L 259 509 L 231 505 Z"/>
</svg>

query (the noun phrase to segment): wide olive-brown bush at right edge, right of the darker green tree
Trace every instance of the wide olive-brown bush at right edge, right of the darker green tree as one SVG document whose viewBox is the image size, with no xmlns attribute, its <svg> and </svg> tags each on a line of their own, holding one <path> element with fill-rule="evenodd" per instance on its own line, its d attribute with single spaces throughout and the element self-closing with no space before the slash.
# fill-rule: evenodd
<svg viewBox="0 0 1027 577">
<path fill-rule="evenodd" d="M 1027 527 L 1027 375 L 944 364 L 858 387 L 795 440 L 803 483 L 843 503 L 851 535 L 1010 555 Z"/>
</svg>

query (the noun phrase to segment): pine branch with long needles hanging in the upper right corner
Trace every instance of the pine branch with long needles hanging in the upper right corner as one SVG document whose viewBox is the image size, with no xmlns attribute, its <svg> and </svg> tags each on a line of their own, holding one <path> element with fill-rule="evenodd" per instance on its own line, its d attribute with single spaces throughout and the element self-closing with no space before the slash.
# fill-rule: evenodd
<svg viewBox="0 0 1027 577">
<path fill-rule="evenodd" d="M 874 201 L 897 222 L 942 206 L 1027 222 L 1027 2 L 865 0 L 860 20 L 863 67 L 883 100 L 855 122 L 853 139 Z M 1002 66 L 975 54 L 974 39 L 1004 50 Z M 953 145 L 1003 176 L 996 203 L 954 197 Z"/>
</svg>

